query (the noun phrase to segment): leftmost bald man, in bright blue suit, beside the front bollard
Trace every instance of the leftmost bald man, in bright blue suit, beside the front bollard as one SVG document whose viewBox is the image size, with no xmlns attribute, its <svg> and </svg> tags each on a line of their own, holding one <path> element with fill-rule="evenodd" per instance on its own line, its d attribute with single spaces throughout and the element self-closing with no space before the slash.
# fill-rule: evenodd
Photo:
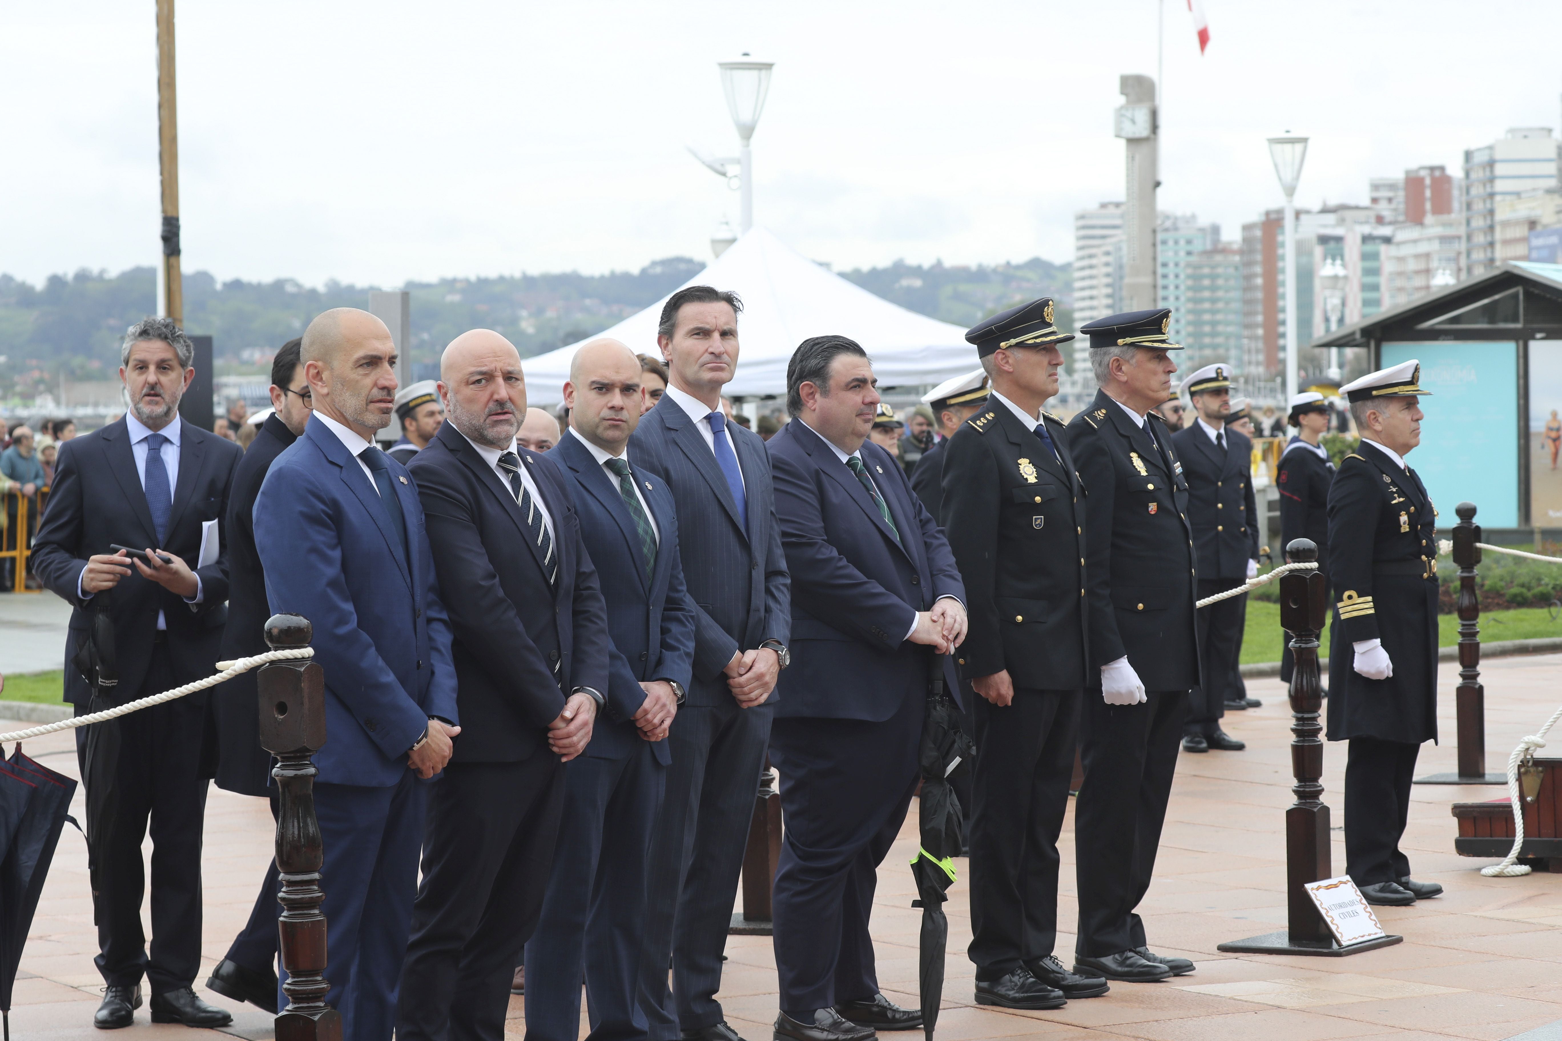
<svg viewBox="0 0 1562 1041">
<path fill-rule="evenodd" d="M 348 1041 L 389 1041 L 423 844 L 420 780 L 444 769 L 461 732 L 450 621 L 417 489 L 372 440 L 395 398 L 389 329 L 364 311 L 326 311 L 300 356 L 314 412 L 266 474 L 255 548 L 272 610 L 314 624 L 325 668 L 328 738 L 314 757 L 325 1000 Z"/>
</svg>

